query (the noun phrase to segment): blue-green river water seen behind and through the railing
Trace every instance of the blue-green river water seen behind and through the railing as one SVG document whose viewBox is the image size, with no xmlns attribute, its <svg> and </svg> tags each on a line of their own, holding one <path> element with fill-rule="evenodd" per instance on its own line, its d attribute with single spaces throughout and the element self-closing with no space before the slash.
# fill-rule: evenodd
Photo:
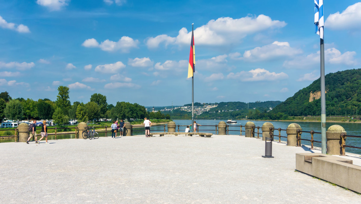
<svg viewBox="0 0 361 204">
<path fill-rule="evenodd" d="M 184 132 L 185 130 L 185 126 L 186 125 L 190 125 L 192 123 L 191 120 L 173 120 L 175 122 L 176 125 L 180 125 L 179 126 L 179 132 Z M 223 120 L 226 122 L 226 120 Z M 215 132 L 215 125 L 218 124 L 220 122 L 220 120 L 196 120 L 196 122 L 198 124 L 201 124 L 202 126 L 199 127 L 199 131 L 200 132 L 210 132 L 210 133 L 216 133 Z M 242 124 L 242 126 L 244 126 L 244 124 L 248 122 L 247 120 L 238 120 L 237 124 L 229 124 L 229 130 L 233 130 L 230 131 L 229 134 L 230 135 L 239 135 L 239 130 L 240 130 L 240 125 Z M 289 122 L 289 121 L 252 121 L 253 123 L 255 123 L 256 127 L 260 126 L 262 127 L 262 124 L 265 122 L 271 122 L 273 124 L 273 126 L 275 128 L 281 128 L 286 130 L 287 126 L 293 122 Z M 315 131 L 315 132 L 321 132 L 321 122 L 295 122 L 297 124 L 299 124 L 302 128 L 303 131 Z M 330 126 L 334 125 L 334 124 L 338 124 L 340 126 L 342 126 L 345 131 L 347 132 L 347 135 L 359 135 L 361 136 L 361 123 L 353 123 L 353 122 L 327 122 L 326 123 L 326 130 L 327 128 L 329 128 Z M 166 131 L 167 131 L 167 127 L 165 127 Z M 139 128 L 133 128 L 133 135 L 144 135 L 144 127 L 139 127 Z M 242 130 L 244 131 L 244 127 L 242 127 Z M 163 132 L 164 131 L 164 126 L 163 125 L 159 125 L 159 126 L 152 126 L 151 127 L 151 132 Z M 178 126 L 176 127 L 176 131 L 178 132 Z M 256 130 L 257 131 L 257 130 Z M 261 129 L 260 129 L 260 132 Z M 218 133 L 218 132 L 217 132 Z M 117 134 L 119 135 L 119 133 Z M 242 135 L 244 135 L 244 132 L 242 132 Z M 274 135 L 278 135 L 278 131 L 275 130 L 274 131 Z M 40 134 L 39 134 L 40 136 Z M 105 136 L 105 133 L 99 133 L 99 136 Z M 107 133 L 107 136 L 111 136 L 111 132 Z M 257 134 L 255 134 L 255 136 L 257 136 Z M 260 135 L 261 137 L 262 135 Z M 281 131 L 281 136 L 287 136 L 286 131 Z M 40 138 L 40 137 L 38 137 Z M 57 139 L 71 139 L 71 138 L 75 138 L 75 134 L 65 134 L 65 135 L 57 135 Z M 302 139 L 311 139 L 311 136 L 309 133 L 302 133 L 301 136 Z M 48 139 L 52 140 L 55 139 L 54 135 L 49 135 Z M 274 140 L 278 140 L 278 137 L 274 137 Z M 281 140 L 283 141 L 287 141 L 286 138 L 281 138 Z M 321 141 L 321 134 L 314 134 L 314 140 L 316 141 Z M 14 139 L 0 139 L 0 142 L 13 142 Z M 309 141 L 302 141 L 302 144 L 305 145 L 311 145 Z M 346 145 L 349 146 L 357 146 L 357 147 L 361 147 L 361 138 L 354 138 L 354 137 L 348 137 L 346 139 Z M 314 142 L 314 146 L 317 147 L 321 147 L 321 143 L 318 142 Z M 355 154 L 361 154 L 361 149 L 356 149 L 356 148 L 346 148 L 347 152 L 350 153 L 355 153 Z"/>
</svg>

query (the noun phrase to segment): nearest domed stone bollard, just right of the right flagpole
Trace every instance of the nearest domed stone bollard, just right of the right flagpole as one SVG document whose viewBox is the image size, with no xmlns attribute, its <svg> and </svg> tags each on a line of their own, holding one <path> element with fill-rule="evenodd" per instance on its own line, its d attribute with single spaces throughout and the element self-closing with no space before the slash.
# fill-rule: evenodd
<svg viewBox="0 0 361 204">
<path fill-rule="evenodd" d="M 340 155 L 342 154 L 341 134 L 346 135 L 345 129 L 340 125 L 330 126 L 326 131 L 327 149 L 326 154 Z M 346 140 L 346 137 L 345 137 Z"/>
</svg>

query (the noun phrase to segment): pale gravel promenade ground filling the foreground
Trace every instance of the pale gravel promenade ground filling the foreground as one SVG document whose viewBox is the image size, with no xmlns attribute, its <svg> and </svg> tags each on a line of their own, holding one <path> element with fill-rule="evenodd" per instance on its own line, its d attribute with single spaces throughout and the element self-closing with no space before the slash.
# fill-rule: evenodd
<svg viewBox="0 0 361 204">
<path fill-rule="evenodd" d="M 361 202 L 295 172 L 305 147 L 274 142 L 275 158 L 262 158 L 264 141 L 235 135 L 49 142 L 0 143 L 0 203 Z"/>
</svg>

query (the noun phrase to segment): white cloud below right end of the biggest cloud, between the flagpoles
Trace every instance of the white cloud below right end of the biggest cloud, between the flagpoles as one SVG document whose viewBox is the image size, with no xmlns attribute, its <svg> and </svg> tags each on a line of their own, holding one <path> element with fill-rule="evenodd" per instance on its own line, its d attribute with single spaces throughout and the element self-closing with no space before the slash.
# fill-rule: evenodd
<svg viewBox="0 0 361 204">
<path fill-rule="evenodd" d="M 272 44 L 265 45 L 262 47 L 256 47 L 252 50 L 246 50 L 243 57 L 238 57 L 239 53 L 232 53 L 230 56 L 232 59 L 243 59 L 246 61 L 260 61 L 279 58 L 282 56 L 294 56 L 301 54 L 301 49 L 295 49 L 290 47 L 288 42 L 274 41 Z"/>
</svg>

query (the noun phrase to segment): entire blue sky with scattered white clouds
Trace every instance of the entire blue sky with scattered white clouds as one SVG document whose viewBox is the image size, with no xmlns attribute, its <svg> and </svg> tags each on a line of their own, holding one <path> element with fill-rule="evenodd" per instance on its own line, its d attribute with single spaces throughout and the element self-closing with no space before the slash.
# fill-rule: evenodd
<svg viewBox="0 0 361 204">
<path fill-rule="evenodd" d="M 325 72 L 360 68 L 361 2 L 324 3 Z M 0 91 L 109 104 L 284 101 L 319 77 L 313 1 L 0 0 Z"/>
</svg>

